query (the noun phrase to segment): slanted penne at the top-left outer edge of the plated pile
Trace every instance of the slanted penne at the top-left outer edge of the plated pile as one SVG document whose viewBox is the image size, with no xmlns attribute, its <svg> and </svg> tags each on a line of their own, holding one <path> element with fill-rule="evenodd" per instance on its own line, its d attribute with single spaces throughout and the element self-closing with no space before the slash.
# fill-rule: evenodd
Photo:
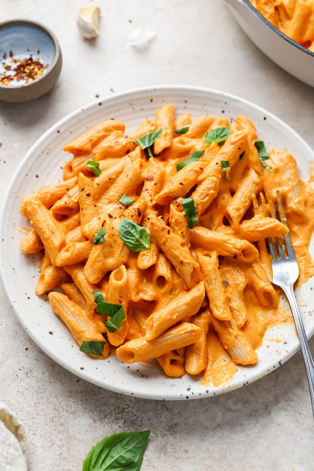
<svg viewBox="0 0 314 471">
<path fill-rule="evenodd" d="M 99 122 L 81 136 L 73 139 L 69 144 L 64 146 L 63 150 L 73 155 L 88 154 L 97 144 L 116 130 L 122 132 L 125 130 L 123 122 L 111 119 Z"/>
</svg>

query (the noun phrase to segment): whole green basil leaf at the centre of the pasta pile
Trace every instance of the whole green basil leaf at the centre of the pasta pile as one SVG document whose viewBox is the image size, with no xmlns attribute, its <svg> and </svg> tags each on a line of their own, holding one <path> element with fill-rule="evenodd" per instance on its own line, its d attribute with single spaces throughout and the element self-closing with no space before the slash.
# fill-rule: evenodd
<svg viewBox="0 0 314 471">
<path fill-rule="evenodd" d="M 134 221 L 121 219 L 118 232 L 120 239 L 132 252 L 142 252 L 151 244 L 149 232 Z"/>
</svg>

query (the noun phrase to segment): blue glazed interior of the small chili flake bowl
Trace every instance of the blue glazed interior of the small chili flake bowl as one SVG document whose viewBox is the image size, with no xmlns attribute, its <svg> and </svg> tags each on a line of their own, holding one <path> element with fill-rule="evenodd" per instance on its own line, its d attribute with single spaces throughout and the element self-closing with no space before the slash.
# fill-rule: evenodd
<svg viewBox="0 0 314 471">
<path fill-rule="evenodd" d="M 14 57 L 39 57 L 40 62 L 48 66 L 55 57 L 52 38 L 40 28 L 27 24 L 12 24 L 0 28 L 0 72 L 5 70 L 3 62 L 10 63 L 10 51 Z"/>
</svg>

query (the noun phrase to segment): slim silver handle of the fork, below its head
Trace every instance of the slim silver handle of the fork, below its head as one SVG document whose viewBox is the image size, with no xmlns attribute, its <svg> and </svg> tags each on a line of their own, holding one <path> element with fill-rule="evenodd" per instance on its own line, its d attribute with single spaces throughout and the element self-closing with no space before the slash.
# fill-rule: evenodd
<svg viewBox="0 0 314 471">
<path fill-rule="evenodd" d="M 313 414 L 314 414 L 314 386 L 313 386 L 314 385 L 314 361 L 313 361 L 312 354 L 310 352 L 310 348 L 308 346 L 302 318 L 301 318 L 298 304 L 294 295 L 293 284 L 294 283 L 290 285 L 290 289 L 289 288 L 287 289 L 284 286 L 282 286 L 282 289 L 285 292 L 287 299 L 289 301 L 292 315 L 294 318 L 294 322 L 297 327 L 298 337 L 301 344 L 302 355 L 303 355 L 304 363 L 306 366 L 307 381 L 308 381 L 308 386 L 310 388 L 312 408 L 313 408 Z"/>
</svg>

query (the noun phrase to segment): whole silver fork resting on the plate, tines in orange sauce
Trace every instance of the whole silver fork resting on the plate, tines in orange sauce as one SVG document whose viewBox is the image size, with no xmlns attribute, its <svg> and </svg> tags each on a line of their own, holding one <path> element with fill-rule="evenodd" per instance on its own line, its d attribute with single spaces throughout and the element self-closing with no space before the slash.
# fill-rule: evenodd
<svg viewBox="0 0 314 471">
<path fill-rule="evenodd" d="M 277 203 L 278 203 L 278 212 L 279 212 L 280 220 L 282 224 L 288 227 L 287 218 L 283 211 L 280 192 L 277 190 L 276 193 L 277 193 Z M 271 211 L 272 217 L 277 219 L 276 211 L 274 207 L 274 201 L 271 194 L 269 194 L 269 203 L 270 203 L 270 211 Z M 308 381 L 308 386 L 310 388 L 312 408 L 313 408 L 313 414 L 314 414 L 314 387 L 313 387 L 314 361 L 310 352 L 310 348 L 307 343 L 307 338 L 306 338 L 306 333 L 304 330 L 302 318 L 301 318 L 298 304 L 297 304 L 294 291 L 293 291 L 293 285 L 295 284 L 299 276 L 299 268 L 298 268 L 296 255 L 294 253 L 294 249 L 292 246 L 290 232 L 284 235 L 284 241 L 285 241 L 286 252 L 287 252 L 288 257 L 286 257 L 285 252 L 283 250 L 282 239 L 280 237 L 276 237 L 277 250 L 279 254 L 279 258 L 277 259 L 276 253 L 274 251 L 273 241 L 271 238 L 268 239 L 269 249 L 273 256 L 273 260 L 272 260 L 273 283 L 282 288 L 282 291 L 287 296 L 288 302 L 290 304 L 294 322 L 297 327 L 297 332 L 298 332 L 298 337 L 301 344 L 301 350 L 302 350 L 304 363 L 306 366 L 307 381 Z"/>
</svg>

